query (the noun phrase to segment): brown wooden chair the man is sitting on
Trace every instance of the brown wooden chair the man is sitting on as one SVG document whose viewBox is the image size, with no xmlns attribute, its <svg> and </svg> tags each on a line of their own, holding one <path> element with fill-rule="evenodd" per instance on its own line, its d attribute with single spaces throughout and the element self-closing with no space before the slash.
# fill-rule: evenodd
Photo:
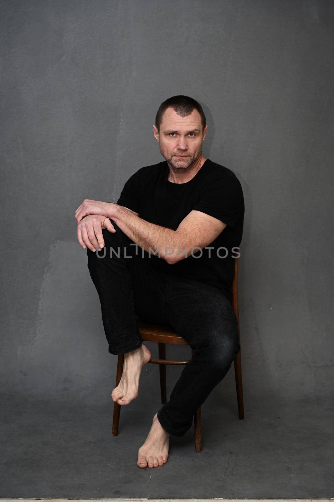
<svg viewBox="0 0 334 502">
<path fill-rule="evenodd" d="M 232 307 L 235 316 L 238 321 L 238 333 L 239 333 L 239 344 L 240 344 L 240 327 L 239 327 L 239 309 L 238 309 L 238 261 L 235 259 L 234 263 L 234 281 L 232 285 Z M 168 360 L 166 359 L 166 343 L 171 343 L 172 345 L 189 345 L 189 343 L 179 336 L 176 331 L 170 325 L 163 324 L 151 324 L 148 322 L 141 321 L 137 319 L 137 326 L 141 333 L 143 341 L 157 342 L 159 350 L 159 359 L 150 359 L 149 362 L 153 364 L 159 364 L 160 371 L 160 391 L 161 391 L 161 403 L 165 404 L 167 402 L 166 398 L 166 364 L 187 364 L 189 360 Z M 194 355 L 194 350 L 191 350 L 191 355 Z M 121 376 L 123 373 L 123 363 L 124 354 L 118 355 L 117 361 L 117 372 L 116 372 L 116 387 L 118 386 Z M 235 361 L 234 361 L 234 373 L 235 373 L 235 385 L 236 385 L 236 396 L 238 402 L 238 412 L 239 419 L 243 420 L 243 395 L 242 395 L 242 377 L 241 377 L 241 351 L 239 351 Z M 121 405 L 114 402 L 114 416 L 113 416 L 113 427 L 112 435 L 117 436 L 118 426 L 120 420 Z M 194 415 L 194 425 L 195 425 L 195 450 L 197 452 L 202 451 L 202 422 L 201 422 L 201 408 L 198 408 Z"/>
</svg>

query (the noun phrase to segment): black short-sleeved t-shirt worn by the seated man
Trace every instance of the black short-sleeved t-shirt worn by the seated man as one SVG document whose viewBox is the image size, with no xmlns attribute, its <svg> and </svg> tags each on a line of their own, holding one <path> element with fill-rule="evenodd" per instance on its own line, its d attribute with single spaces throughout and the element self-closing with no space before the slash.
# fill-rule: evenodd
<svg viewBox="0 0 334 502">
<path fill-rule="evenodd" d="M 152 253 L 145 252 L 144 256 L 157 270 L 218 288 L 231 300 L 234 258 L 239 256 L 243 230 L 241 184 L 230 169 L 210 159 L 186 183 L 172 183 L 167 179 L 168 174 L 167 161 L 140 168 L 125 183 L 117 204 L 139 213 L 140 218 L 150 223 L 172 230 L 192 210 L 226 223 L 224 230 L 205 248 L 194 249 L 193 256 L 188 249 L 188 257 L 173 265 Z M 139 247 L 138 252 L 142 253 Z"/>
</svg>

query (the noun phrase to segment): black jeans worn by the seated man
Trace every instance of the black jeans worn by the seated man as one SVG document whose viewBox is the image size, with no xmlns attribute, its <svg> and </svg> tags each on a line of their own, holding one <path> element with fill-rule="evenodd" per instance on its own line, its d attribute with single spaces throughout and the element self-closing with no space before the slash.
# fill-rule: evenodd
<svg viewBox="0 0 334 502">
<path fill-rule="evenodd" d="M 94 253 L 87 248 L 109 352 L 124 354 L 141 346 L 136 316 L 168 323 L 189 342 L 195 354 L 169 402 L 158 411 L 162 427 L 173 436 L 183 436 L 196 410 L 236 359 L 240 350 L 237 319 L 222 292 L 196 280 L 158 272 L 150 265 L 148 253 L 143 258 L 142 248 L 112 223 L 115 233 L 103 230 L 104 249 Z"/>
</svg>

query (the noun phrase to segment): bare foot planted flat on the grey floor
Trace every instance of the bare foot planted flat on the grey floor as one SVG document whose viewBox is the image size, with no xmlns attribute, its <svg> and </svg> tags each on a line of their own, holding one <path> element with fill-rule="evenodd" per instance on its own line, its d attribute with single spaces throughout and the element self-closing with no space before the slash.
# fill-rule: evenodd
<svg viewBox="0 0 334 502">
<path fill-rule="evenodd" d="M 168 460 L 169 433 L 161 426 L 157 413 L 153 417 L 152 427 L 145 443 L 138 450 L 138 467 L 158 467 Z"/>
</svg>

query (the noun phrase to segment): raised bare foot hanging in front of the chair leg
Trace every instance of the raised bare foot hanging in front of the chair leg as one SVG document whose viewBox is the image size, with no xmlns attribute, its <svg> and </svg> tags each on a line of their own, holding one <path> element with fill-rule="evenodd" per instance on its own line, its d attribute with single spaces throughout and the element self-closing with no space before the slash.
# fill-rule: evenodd
<svg viewBox="0 0 334 502">
<path fill-rule="evenodd" d="M 117 401 L 119 405 L 128 405 L 136 399 L 142 367 L 150 359 L 151 352 L 143 343 L 136 350 L 124 354 L 123 374 L 120 383 L 111 393 L 113 401 Z"/>
</svg>

